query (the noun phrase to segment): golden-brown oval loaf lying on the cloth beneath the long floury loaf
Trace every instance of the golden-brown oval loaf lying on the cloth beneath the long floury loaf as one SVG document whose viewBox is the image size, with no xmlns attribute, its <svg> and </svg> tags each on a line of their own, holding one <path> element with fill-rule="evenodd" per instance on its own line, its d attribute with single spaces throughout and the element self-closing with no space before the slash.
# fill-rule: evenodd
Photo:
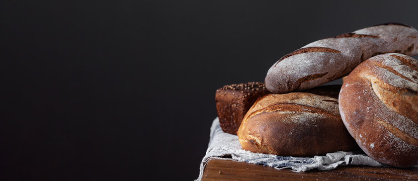
<svg viewBox="0 0 418 181">
<path fill-rule="evenodd" d="M 340 86 L 311 93 L 269 94 L 249 109 L 237 135 L 243 149 L 280 156 L 314 156 L 358 148 L 338 110 Z"/>
</svg>

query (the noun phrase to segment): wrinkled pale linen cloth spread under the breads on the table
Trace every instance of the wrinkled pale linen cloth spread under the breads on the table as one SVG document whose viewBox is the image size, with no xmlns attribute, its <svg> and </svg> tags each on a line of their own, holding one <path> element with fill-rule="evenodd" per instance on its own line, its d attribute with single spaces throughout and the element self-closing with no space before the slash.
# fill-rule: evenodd
<svg viewBox="0 0 418 181">
<path fill-rule="evenodd" d="M 367 155 L 356 152 L 339 151 L 335 153 L 327 153 L 325 156 L 314 157 L 292 157 L 277 156 L 272 154 L 254 153 L 245 151 L 241 148 L 238 136 L 225 133 L 219 125 L 219 119 L 213 120 L 210 128 L 209 146 L 206 155 L 200 164 L 200 174 L 196 180 L 201 180 L 203 170 L 207 162 L 211 159 L 227 159 L 234 161 L 244 161 L 247 163 L 255 163 L 264 166 L 271 166 L 277 169 L 290 168 L 293 171 L 308 171 L 314 168 L 320 170 L 330 170 L 344 165 L 368 165 L 368 166 L 384 166 Z"/>
</svg>

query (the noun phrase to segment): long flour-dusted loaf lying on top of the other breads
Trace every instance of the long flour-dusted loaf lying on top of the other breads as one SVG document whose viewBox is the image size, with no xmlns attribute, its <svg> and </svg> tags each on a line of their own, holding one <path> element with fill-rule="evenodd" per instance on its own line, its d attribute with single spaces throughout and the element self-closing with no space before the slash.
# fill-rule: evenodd
<svg viewBox="0 0 418 181">
<path fill-rule="evenodd" d="M 267 72 L 266 86 L 272 93 L 316 87 L 382 53 L 418 54 L 418 31 L 387 23 L 315 41 L 280 58 Z"/>
</svg>

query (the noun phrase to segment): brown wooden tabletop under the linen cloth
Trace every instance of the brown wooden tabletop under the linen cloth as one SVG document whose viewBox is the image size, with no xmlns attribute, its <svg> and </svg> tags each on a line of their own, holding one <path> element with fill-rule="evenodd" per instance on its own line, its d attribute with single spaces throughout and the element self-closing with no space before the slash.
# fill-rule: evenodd
<svg viewBox="0 0 418 181">
<path fill-rule="evenodd" d="M 341 166 L 333 170 L 294 172 L 231 160 L 210 160 L 202 180 L 418 180 L 418 167 Z"/>
</svg>

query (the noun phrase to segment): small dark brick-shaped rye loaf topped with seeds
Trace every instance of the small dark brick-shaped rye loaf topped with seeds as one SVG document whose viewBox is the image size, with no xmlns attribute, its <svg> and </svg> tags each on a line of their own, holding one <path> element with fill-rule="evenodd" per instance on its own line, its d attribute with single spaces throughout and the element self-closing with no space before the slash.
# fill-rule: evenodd
<svg viewBox="0 0 418 181">
<path fill-rule="evenodd" d="M 217 89 L 216 111 L 222 131 L 236 134 L 248 109 L 258 98 L 269 93 L 263 82 L 225 85 Z"/>
</svg>

